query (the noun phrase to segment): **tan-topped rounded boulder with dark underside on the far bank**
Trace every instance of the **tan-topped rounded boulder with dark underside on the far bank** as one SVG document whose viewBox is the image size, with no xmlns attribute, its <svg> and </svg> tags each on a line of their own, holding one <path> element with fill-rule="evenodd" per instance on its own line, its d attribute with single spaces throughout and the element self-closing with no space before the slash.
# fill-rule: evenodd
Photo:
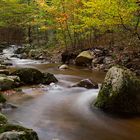
<svg viewBox="0 0 140 140">
<path fill-rule="evenodd" d="M 93 55 L 90 51 L 81 52 L 75 59 L 75 62 L 79 66 L 91 65 Z"/>
</svg>

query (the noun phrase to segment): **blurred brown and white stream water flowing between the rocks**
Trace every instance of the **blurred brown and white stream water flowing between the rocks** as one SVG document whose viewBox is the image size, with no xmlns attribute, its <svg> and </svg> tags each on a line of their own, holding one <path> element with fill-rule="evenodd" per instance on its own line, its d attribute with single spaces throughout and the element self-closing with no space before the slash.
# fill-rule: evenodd
<svg viewBox="0 0 140 140">
<path fill-rule="evenodd" d="M 84 78 L 101 83 L 104 73 L 72 66 L 59 70 L 58 64 L 12 58 L 12 54 L 12 49 L 4 50 L 4 56 L 15 66 L 51 72 L 59 83 L 24 87 L 25 95 L 11 97 L 10 102 L 18 108 L 4 112 L 10 122 L 33 128 L 40 140 L 140 139 L 140 117 L 118 117 L 97 108 L 91 110 L 90 103 L 96 99 L 98 90 L 69 87 Z"/>
</svg>

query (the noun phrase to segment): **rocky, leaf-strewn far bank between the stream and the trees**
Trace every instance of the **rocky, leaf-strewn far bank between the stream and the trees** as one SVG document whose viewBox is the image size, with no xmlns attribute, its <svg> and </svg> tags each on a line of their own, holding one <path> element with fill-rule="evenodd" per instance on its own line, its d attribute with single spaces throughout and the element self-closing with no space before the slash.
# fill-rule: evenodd
<svg viewBox="0 0 140 140">
<path fill-rule="evenodd" d="M 83 60 L 80 59 L 81 64 L 77 63 L 78 55 L 84 51 L 88 51 L 88 53 L 84 54 Z M 138 47 L 94 47 L 74 51 L 71 49 L 65 50 L 64 47 L 45 49 L 26 46 L 17 49 L 15 53 L 20 54 L 20 58 L 41 60 L 49 63 L 80 65 L 92 70 L 105 72 L 114 65 L 121 65 L 135 72 L 138 76 L 140 75 L 140 48 Z M 90 58 L 87 58 L 89 55 Z"/>
</svg>

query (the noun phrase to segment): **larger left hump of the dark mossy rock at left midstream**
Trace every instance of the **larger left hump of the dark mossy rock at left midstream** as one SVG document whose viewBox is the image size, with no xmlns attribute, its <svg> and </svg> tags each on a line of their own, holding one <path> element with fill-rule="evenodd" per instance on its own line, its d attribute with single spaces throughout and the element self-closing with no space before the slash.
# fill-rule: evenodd
<svg viewBox="0 0 140 140">
<path fill-rule="evenodd" d="M 12 75 L 19 76 L 20 80 L 25 84 L 39 84 L 44 76 L 42 72 L 34 68 L 17 69 Z"/>
</svg>

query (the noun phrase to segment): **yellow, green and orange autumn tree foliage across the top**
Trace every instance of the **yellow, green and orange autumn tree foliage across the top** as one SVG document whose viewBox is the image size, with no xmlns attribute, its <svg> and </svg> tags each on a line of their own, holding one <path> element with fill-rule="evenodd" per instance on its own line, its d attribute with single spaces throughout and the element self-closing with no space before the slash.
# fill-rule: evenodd
<svg viewBox="0 0 140 140">
<path fill-rule="evenodd" d="M 140 40 L 138 0 L 1 0 L 0 26 L 26 29 L 27 40 L 43 35 L 77 47 L 99 33 L 126 30 Z"/>
</svg>

